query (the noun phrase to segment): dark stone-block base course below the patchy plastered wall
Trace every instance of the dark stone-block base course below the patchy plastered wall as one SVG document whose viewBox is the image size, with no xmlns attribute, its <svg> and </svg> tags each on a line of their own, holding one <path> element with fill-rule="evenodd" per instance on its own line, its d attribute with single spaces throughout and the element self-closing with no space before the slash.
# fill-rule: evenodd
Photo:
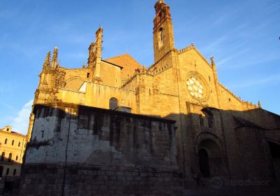
<svg viewBox="0 0 280 196">
<path fill-rule="evenodd" d="M 20 195 L 182 195 L 183 175 L 135 167 L 25 165 Z"/>
</svg>

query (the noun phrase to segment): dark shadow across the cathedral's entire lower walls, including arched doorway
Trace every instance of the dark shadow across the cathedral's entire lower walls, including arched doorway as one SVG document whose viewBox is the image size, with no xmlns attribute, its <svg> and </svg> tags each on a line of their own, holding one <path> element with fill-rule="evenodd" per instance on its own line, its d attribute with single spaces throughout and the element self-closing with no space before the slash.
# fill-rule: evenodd
<svg viewBox="0 0 280 196">
<path fill-rule="evenodd" d="M 22 195 L 46 188 L 50 195 L 80 195 L 84 187 L 92 195 L 182 195 L 200 173 L 279 179 L 279 116 L 261 109 L 156 118 L 57 103 L 35 105 L 34 115 Z"/>
</svg>

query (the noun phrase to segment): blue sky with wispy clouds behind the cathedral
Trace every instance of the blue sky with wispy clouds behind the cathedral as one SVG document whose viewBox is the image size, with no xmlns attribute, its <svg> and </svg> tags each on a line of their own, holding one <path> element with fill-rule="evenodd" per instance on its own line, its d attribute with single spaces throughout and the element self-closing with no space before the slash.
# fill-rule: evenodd
<svg viewBox="0 0 280 196">
<path fill-rule="evenodd" d="M 166 0 L 175 46 L 195 43 L 214 56 L 232 92 L 280 114 L 280 1 Z M 104 59 L 130 53 L 153 63 L 155 1 L 0 1 L 0 127 L 27 132 L 34 91 L 48 50 L 62 66 L 81 67 L 94 33 L 104 28 Z"/>
</svg>

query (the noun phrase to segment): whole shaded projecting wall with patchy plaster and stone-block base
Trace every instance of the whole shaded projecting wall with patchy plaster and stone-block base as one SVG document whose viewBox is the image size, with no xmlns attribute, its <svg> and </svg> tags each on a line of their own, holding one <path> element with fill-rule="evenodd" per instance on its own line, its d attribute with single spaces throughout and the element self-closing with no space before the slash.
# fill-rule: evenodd
<svg viewBox="0 0 280 196">
<path fill-rule="evenodd" d="M 22 195 L 180 195 L 174 120 L 34 106 Z"/>
</svg>

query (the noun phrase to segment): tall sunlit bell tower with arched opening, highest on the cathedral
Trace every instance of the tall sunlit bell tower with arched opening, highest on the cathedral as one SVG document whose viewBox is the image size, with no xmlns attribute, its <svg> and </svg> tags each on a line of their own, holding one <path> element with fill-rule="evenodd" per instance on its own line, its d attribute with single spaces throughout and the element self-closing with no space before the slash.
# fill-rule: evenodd
<svg viewBox="0 0 280 196">
<path fill-rule="evenodd" d="M 174 49 L 173 25 L 170 7 L 165 1 L 155 3 L 155 19 L 153 20 L 153 50 L 155 62 Z"/>
</svg>

